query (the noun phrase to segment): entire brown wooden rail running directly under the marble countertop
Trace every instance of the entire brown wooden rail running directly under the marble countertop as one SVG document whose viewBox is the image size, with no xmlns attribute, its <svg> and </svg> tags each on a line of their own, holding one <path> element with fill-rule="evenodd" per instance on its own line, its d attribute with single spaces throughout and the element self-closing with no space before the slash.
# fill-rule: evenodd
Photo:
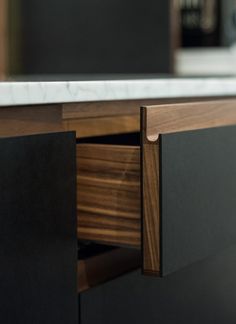
<svg viewBox="0 0 236 324">
<path fill-rule="evenodd" d="M 0 136 L 65 130 L 76 131 L 77 137 L 80 138 L 138 132 L 141 105 L 158 104 L 161 107 L 164 103 L 170 105 L 170 102 L 191 102 L 192 100 L 193 98 L 143 99 L 1 107 Z"/>
</svg>

